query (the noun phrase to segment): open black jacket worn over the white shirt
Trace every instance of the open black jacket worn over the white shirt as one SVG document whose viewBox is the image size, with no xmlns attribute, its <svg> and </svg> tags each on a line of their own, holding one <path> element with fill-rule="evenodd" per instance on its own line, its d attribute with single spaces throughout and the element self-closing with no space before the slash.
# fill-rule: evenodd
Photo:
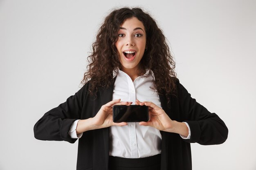
<svg viewBox="0 0 256 170">
<path fill-rule="evenodd" d="M 222 144 L 228 135 L 225 123 L 215 113 L 191 98 L 188 91 L 176 81 L 177 94 L 171 96 L 171 106 L 167 99 L 159 95 L 162 108 L 172 119 L 186 121 L 191 129 L 191 138 L 182 139 L 179 134 L 162 134 L 161 170 L 191 170 L 190 143 L 202 145 Z M 34 135 L 40 140 L 68 141 L 74 143 L 68 132 L 76 119 L 94 117 L 101 106 L 112 100 L 113 87 L 100 89 L 97 98 L 88 95 L 90 81 L 66 102 L 49 110 L 34 126 Z M 109 128 L 83 132 L 79 139 L 77 170 L 108 170 Z"/>
</svg>

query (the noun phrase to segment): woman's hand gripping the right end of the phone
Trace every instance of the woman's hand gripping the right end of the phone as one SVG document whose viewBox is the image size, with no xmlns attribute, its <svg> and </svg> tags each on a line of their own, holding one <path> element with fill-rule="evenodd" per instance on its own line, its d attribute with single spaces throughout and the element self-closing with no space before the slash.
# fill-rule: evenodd
<svg viewBox="0 0 256 170">
<path fill-rule="evenodd" d="M 135 104 L 141 106 L 146 105 L 148 106 L 149 110 L 150 120 L 147 122 L 141 121 L 139 122 L 140 125 L 152 126 L 154 128 L 157 128 L 158 130 L 178 133 L 185 137 L 189 135 L 189 128 L 186 126 L 185 123 L 172 120 L 162 108 L 159 108 L 154 103 L 139 102 L 139 100 L 136 99 Z"/>
</svg>

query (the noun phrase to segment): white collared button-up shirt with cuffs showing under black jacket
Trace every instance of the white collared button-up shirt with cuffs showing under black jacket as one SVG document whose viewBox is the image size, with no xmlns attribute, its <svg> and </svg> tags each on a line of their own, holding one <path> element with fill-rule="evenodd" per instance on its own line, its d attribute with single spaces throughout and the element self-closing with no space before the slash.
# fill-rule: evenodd
<svg viewBox="0 0 256 170">
<path fill-rule="evenodd" d="M 118 68 L 113 71 L 113 76 L 117 76 L 114 84 L 112 100 L 121 99 L 123 102 L 132 102 L 135 100 L 150 101 L 161 107 L 159 95 L 151 87 L 154 86 L 154 74 L 148 70 L 144 76 L 132 79 Z M 74 121 L 70 128 L 72 138 L 80 138 L 82 134 L 76 135 L 76 126 L 78 120 Z M 186 123 L 186 122 L 185 122 Z M 189 128 L 189 125 L 186 123 Z M 189 136 L 184 139 L 190 139 Z M 141 158 L 157 155 L 161 153 L 162 135 L 160 131 L 151 126 L 141 126 L 138 122 L 129 122 L 127 126 L 110 127 L 110 150 L 109 155 L 124 158 Z"/>
</svg>

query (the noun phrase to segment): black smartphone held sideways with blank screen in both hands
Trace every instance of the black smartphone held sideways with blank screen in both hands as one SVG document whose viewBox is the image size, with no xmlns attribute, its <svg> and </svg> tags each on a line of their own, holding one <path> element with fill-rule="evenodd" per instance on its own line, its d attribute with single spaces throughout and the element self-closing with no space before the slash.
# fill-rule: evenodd
<svg viewBox="0 0 256 170">
<path fill-rule="evenodd" d="M 148 106 L 115 105 L 113 106 L 113 121 L 114 122 L 148 121 Z"/>
</svg>

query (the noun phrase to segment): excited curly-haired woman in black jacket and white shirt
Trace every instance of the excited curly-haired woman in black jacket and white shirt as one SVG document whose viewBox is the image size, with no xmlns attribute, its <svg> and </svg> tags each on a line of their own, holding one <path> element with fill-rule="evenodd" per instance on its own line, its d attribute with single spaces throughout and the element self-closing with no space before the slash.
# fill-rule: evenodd
<svg viewBox="0 0 256 170">
<path fill-rule="evenodd" d="M 191 170 L 190 143 L 221 144 L 228 129 L 180 84 L 155 20 L 139 8 L 112 11 L 88 57 L 83 87 L 34 126 L 36 139 L 74 143 L 77 170 Z M 146 105 L 150 120 L 112 120 L 114 105 Z"/>
</svg>

